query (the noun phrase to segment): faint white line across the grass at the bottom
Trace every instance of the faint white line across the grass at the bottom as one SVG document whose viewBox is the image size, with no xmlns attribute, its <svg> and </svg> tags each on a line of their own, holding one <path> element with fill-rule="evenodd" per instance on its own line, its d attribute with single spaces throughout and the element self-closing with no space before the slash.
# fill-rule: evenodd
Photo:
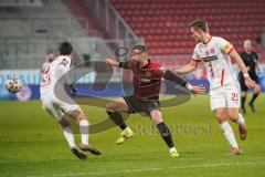
<svg viewBox="0 0 265 177">
<path fill-rule="evenodd" d="M 229 163 L 229 164 L 202 164 L 202 165 L 176 166 L 176 167 L 169 167 L 169 168 L 136 168 L 136 169 L 76 173 L 76 174 L 36 175 L 36 176 L 29 176 L 29 177 L 68 177 L 68 176 L 85 176 L 85 175 L 110 175 L 110 174 L 121 174 L 121 173 L 141 173 L 141 171 L 159 171 L 159 170 L 169 170 L 169 169 L 248 166 L 248 165 L 265 165 L 265 162 L 234 163 L 234 164 L 232 164 L 232 163 Z"/>
</svg>

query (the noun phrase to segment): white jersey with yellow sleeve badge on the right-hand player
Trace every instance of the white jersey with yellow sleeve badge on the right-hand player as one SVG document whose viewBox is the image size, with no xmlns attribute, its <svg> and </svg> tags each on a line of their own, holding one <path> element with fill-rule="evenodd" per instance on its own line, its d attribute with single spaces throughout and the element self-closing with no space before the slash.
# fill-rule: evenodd
<svg viewBox="0 0 265 177">
<path fill-rule="evenodd" d="M 197 44 L 192 58 L 197 62 L 203 62 L 206 67 L 210 90 L 230 85 L 239 86 L 229 56 L 233 50 L 229 41 L 219 37 L 211 37 L 208 43 Z"/>
</svg>

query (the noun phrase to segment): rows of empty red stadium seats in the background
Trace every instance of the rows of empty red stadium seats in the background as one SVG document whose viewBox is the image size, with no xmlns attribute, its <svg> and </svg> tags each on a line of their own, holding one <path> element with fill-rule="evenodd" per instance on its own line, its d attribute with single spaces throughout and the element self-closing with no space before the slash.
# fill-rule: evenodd
<svg viewBox="0 0 265 177">
<path fill-rule="evenodd" d="M 265 27 L 265 1 L 226 0 L 110 0 L 150 54 L 191 54 L 195 45 L 189 21 L 204 18 L 212 34 L 241 48 L 245 38 L 256 40 Z M 155 49 L 155 50 L 152 50 Z M 261 51 L 261 48 L 258 49 Z"/>
</svg>

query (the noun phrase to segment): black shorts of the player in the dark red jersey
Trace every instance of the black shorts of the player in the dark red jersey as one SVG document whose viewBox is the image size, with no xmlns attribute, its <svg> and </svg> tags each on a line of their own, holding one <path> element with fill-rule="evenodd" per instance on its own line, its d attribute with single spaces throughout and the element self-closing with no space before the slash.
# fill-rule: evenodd
<svg viewBox="0 0 265 177">
<path fill-rule="evenodd" d="M 131 96 L 124 96 L 125 102 L 129 108 L 128 114 L 135 114 L 144 112 L 148 116 L 153 110 L 160 111 L 160 103 L 159 101 L 139 101 L 135 95 Z"/>
</svg>

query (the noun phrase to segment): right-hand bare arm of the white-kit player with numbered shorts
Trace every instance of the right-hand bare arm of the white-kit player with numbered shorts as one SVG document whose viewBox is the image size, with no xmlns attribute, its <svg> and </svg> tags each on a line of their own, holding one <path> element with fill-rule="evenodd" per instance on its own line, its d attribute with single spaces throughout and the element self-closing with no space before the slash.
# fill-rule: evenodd
<svg viewBox="0 0 265 177">
<path fill-rule="evenodd" d="M 254 88 L 256 83 L 250 77 L 247 73 L 247 69 L 244 62 L 242 61 L 241 56 L 239 55 L 239 53 L 235 50 L 233 50 L 229 55 L 232 60 L 234 60 L 234 62 L 237 64 L 237 66 L 242 71 L 245 79 L 246 86 Z"/>
</svg>

